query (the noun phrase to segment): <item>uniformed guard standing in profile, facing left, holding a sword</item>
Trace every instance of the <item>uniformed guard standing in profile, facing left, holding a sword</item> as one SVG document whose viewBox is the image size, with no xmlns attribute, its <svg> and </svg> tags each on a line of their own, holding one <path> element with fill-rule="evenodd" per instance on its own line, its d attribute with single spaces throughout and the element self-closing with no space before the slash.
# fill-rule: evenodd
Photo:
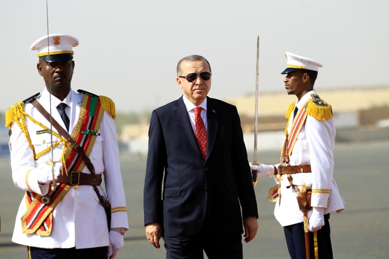
<svg viewBox="0 0 389 259">
<path fill-rule="evenodd" d="M 281 74 L 286 74 L 285 89 L 296 95 L 297 101 L 290 104 L 285 115 L 288 123 L 281 163 L 250 167 L 258 176 L 276 179 L 268 200 L 276 202 L 274 214 L 284 228 L 291 258 L 330 259 L 330 212 L 340 212 L 345 205 L 333 179 L 332 107 L 314 90 L 322 65 L 290 52 L 286 52 L 286 58 Z"/>
</svg>

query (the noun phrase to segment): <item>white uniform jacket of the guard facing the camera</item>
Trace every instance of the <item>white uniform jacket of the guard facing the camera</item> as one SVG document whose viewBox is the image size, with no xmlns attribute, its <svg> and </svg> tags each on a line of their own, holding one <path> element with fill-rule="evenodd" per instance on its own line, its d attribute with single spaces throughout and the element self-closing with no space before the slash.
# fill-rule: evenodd
<svg viewBox="0 0 389 259">
<path fill-rule="evenodd" d="M 51 113 L 53 118 L 63 127 L 65 125 L 61 120 L 56 105 L 61 103 L 55 96 L 51 96 L 46 88 L 42 94 L 37 97 L 40 104 Z M 77 124 L 81 107 L 83 93 L 70 91 L 68 96 L 62 101 L 69 105 L 67 109 L 70 118 L 70 134 Z M 50 122 L 37 111 L 32 104 L 25 104 L 24 110 L 35 120 L 43 123 L 50 128 Z M 34 145 L 36 154 L 51 146 L 58 139 L 49 133 L 37 134 L 42 127 L 26 118 L 26 126 Z M 21 190 L 32 190 L 37 194 L 45 195 L 48 192 L 48 185 L 40 185 L 37 181 L 37 171 L 46 162 L 52 159 L 52 153 L 47 152 L 41 155 L 37 160 L 34 159 L 34 153 L 26 139 L 25 134 L 19 128 L 17 123 L 13 123 L 11 144 L 11 167 L 13 181 Z M 53 127 L 53 131 L 56 129 Z M 124 188 L 120 172 L 120 161 L 118 145 L 116 141 L 116 130 L 113 119 L 109 113 L 104 111 L 90 159 L 95 168 L 96 174 L 104 174 L 105 188 L 112 207 L 111 228 L 128 228 L 128 218 L 126 210 L 126 201 Z M 53 150 L 54 161 L 60 161 L 63 145 L 59 144 Z M 28 177 L 26 178 L 26 174 Z M 85 166 L 83 173 L 90 173 Z M 103 189 L 98 186 L 103 195 Z M 39 236 L 37 234 L 23 234 L 21 226 L 21 217 L 26 212 L 25 198 L 20 203 L 16 218 L 12 241 L 33 247 L 40 248 L 91 248 L 109 245 L 109 235 L 107 220 L 104 208 L 99 203 L 99 199 L 90 185 L 80 185 L 78 188 L 72 187 L 62 198 L 53 210 L 53 227 L 49 236 Z"/>
</svg>

